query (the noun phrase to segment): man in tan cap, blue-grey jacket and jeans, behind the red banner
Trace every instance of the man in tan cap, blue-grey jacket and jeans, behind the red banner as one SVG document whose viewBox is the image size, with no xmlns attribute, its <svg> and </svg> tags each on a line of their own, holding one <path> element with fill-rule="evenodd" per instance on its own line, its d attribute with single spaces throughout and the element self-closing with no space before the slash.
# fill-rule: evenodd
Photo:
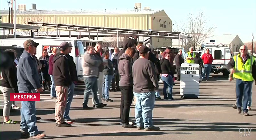
<svg viewBox="0 0 256 140">
<path fill-rule="evenodd" d="M 42 92 L 42 87 L 39 82 L 39 75 L 35 65 L 35 60 L 32 55 L 36 52 L 36 47 L 39 44 L 33 40 L 26 40 L 23 43 L 24 52 L 20 56 L 17 79 L 19 93 L 31 93 L 36 89 L 36 92 Z M 36 108 L 35 101 L 21 101 L 21 122 L 20 132 L 21 138 L 42 139 L 46 135 L 40 134 L 36 126 Z"/>
</svg>

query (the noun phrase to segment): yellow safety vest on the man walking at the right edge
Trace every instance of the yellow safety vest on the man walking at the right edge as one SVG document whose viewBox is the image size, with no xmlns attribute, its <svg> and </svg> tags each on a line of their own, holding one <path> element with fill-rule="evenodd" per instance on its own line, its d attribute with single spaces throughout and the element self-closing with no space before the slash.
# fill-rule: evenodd
<svg viewBox="0 0 256 140">
<path fill-rule="evenodd" d="M 233 78 L 241 79 L 242 81 L 253 81 L 252 77 L 252 64 L 254 62 L 253 57 L 249 57 L 243 65 L 243 60 L 240 54 L 233 57 L 235 61 Z"/>
</svg>

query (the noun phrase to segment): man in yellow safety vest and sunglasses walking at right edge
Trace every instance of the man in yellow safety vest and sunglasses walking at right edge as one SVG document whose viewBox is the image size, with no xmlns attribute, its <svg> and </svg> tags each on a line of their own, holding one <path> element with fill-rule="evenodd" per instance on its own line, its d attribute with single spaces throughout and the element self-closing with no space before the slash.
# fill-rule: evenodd
<svg viewBox="0 0 256 140">
<path fill-rule="evenodd" d="M 256 80 L 256 65 L 252 56 L 248 55 L 247 46 L 240 47 L 240 53 L 233 57 L 228 63 L 227 69 L 233 78 L 236 78 L 236 106 L 238 113 L 242 112 L 243 99 L 243 115 L 249 116 L 247 103 L 252 94 L 253 79 Z"/>
</svg>

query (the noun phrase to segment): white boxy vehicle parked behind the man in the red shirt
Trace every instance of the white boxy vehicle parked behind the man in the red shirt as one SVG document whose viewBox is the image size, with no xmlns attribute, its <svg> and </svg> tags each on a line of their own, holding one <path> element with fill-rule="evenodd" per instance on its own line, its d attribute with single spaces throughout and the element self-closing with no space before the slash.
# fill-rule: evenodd
<svg viewBox="0 0 256 140">
<path fill-rule="evenodd" d="M 231 53 L 229 47 L 204 47 L 201 53 L 202 55 L 206 49 L 209 49 L 209 53 L 212 54 L 213 62 L 212 62 L 212 72 L 214 74 L 222 73 L 223 76 L 227 77 L 229 72 L 226 68 L 228 62 L 231 60 Z"/>
</svg>

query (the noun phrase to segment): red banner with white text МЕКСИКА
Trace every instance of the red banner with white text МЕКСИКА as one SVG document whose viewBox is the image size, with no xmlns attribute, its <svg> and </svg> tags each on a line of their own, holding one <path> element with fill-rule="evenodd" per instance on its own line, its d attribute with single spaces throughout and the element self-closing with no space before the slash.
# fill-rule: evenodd
<svg viewBox="0 0 256 140">
<path fill-rule="evenodd" d="M 11 101 L 40 101 L 40 93 L 11 93 Z"/>
</svg>

